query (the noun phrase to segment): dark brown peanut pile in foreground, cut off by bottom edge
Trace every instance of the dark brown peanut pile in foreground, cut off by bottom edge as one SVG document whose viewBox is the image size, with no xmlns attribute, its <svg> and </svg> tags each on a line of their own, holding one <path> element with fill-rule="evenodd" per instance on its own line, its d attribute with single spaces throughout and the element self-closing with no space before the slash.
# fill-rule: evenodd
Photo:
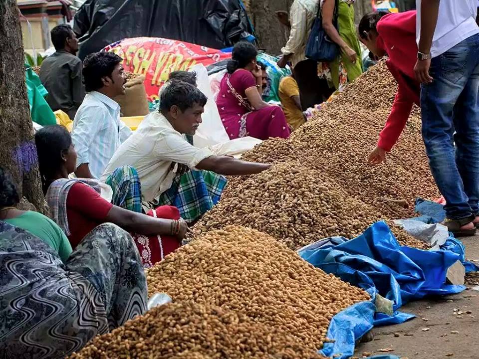
<svg viewBox="0 0 479 359">
<path fill-rule="evenodd" d="M 170 303 L 96 337 L 70 359 L 325 359 L 244 313 Z"/>
</svg>

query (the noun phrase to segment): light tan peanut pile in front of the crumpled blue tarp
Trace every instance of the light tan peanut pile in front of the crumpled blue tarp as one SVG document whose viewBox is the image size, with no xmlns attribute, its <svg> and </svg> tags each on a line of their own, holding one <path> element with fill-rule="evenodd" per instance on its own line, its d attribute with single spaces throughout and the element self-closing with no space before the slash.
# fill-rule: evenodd
<svg viewBox="0 0 479 359">
<path fill-rule="evenodd" d="M 150 295 L 244 313 L 279 335 L 321 349 L 330 319 L 363 290 L 314 268 L 274 238 L 240 226 L 210 231 L 147 273 Z"/>
</svg>

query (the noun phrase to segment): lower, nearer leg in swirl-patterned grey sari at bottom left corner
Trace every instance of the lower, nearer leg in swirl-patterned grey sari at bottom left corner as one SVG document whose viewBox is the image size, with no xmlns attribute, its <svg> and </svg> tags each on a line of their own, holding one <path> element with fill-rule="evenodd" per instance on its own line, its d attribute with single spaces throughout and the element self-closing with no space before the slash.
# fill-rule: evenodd
<svg viewBox="0 0 479 359">
<path fill-rule="evenodd" d="M 65 358 L 108 332 L 100 293 L 41 239 L 0 221 L 0 262 L 1 358 Z"/>
</svg>

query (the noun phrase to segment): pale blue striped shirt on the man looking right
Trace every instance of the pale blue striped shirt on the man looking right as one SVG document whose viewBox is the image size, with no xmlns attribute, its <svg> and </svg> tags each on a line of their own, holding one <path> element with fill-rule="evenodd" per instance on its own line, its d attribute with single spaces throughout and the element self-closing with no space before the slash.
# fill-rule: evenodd
<svg viewBox="0 0 479 359">
<path fill-rule="evenodd" d="M 120 121 L 120 105 L 97 91 L 89 92 L 73 121 L 71 139 L 77 153 L 76 167 L 88 164 L 99 179 L 115 151 L 131 135 Z"/>
</svg>

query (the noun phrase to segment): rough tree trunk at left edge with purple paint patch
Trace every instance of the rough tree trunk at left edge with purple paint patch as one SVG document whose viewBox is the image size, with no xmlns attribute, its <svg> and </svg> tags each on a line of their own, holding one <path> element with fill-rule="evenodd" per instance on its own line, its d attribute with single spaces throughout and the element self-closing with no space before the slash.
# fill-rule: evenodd
<svg viewBox="0 0 479 359">
<path fill-rule="evenodd" d="M 23 56 L 16 1 L 1 0 L 0 166 L 12 176 L 20 198 L 25 197 L 39 212 L 45 213 L 47 206 L 38 173 Z"/>
</svg>

